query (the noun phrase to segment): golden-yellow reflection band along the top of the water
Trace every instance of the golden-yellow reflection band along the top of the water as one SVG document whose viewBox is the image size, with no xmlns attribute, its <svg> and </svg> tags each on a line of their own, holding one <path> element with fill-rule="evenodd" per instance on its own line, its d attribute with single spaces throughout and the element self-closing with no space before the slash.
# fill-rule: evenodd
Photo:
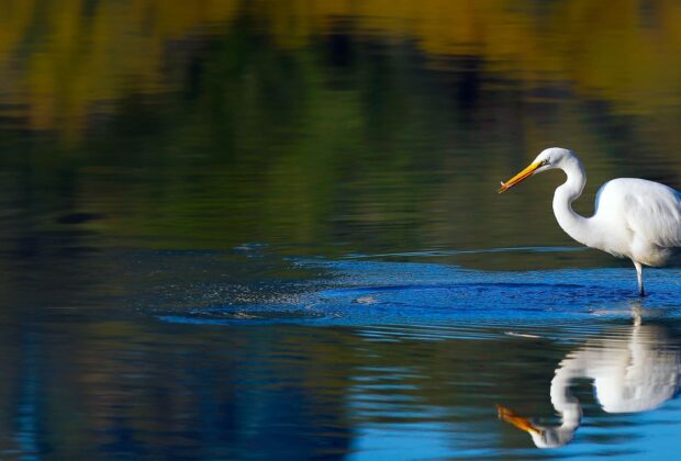
<svg viewBox="0 0 681 461">
<path fill-rule="evenodd" d="M 365 2 L 2 1 L 0 76 L 3 114 L 31 127 L 82 130 L 111 101 L 174 88 L 182 46 L 227 34 L 237 18 L 275 46 L 302 48 L 351 23 L 355 33 L 409 41 L 437 56 L 477 56 L 484 70 L 532 87 L 566 82 L 623 113 L 679 105 L 681 4 L 641 1 L 493 0 Z M 338 21 L 339 19 L 346 22 Z M 236 50 L 234 50 L 236 52 Z"/>
</svg>

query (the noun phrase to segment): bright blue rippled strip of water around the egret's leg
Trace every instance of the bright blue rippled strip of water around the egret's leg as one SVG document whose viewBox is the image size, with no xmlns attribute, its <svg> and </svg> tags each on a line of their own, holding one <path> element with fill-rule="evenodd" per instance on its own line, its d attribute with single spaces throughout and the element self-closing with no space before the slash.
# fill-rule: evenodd
<svg viewBox="0 0 681 461">
<path fill-rule="evenodd" d="M 510 251 L 485 252 L 504 250 Z M 423 254 L 424 258 L 431 256 L 432 252 Z M 533 323 L 550 323 L 629 315 L 628 306 L 635 301 L 640 301 L 647 310 L 663 310 L 667 315 L 676 315 L 679 308 L 681 271 L 674 269 L 647 271 L 650 294 L 639 300 L 633 268 L 511 272 L 368 259 L 290 258 L 292 270 L 323 273 L 323 279 L 243 286 L 242 292 L 225 295 L 223 303 L 201 303 L 189 315 L 159 316 L 168 322 L 198 324 L 353 326 L 461 321 L 494 325 L 496 322 L 522 324 L 527 318 Z M 202 288 L 211 290 L 210 285 Z"/>
</svg>

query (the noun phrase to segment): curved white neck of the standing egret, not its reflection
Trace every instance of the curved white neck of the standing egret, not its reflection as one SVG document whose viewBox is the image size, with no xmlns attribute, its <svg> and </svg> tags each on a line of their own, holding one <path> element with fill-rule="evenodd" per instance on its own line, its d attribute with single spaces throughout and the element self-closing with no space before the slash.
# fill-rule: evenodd
<svg viewBox="0 0 681 461">
<path fill-rule="evenodd" d="M 554 214 L 560 227 L 573 239 L 587 246 L 593 246 L 593 234 L 589 232 L 590 218 L 580 216 L 572 210 L 572 202 L 581 195 L 587 176 L 582 164 L 577 158 L 570 158 L 560 166 L 568 180 L 556 189 L 554 193 Z"/>
</svg>

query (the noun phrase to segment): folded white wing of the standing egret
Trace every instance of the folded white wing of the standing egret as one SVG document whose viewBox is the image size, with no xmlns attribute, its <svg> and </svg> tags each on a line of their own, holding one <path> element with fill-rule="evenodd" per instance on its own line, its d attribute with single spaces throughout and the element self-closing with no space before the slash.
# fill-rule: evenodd
<svg viewBox="0 0 681 461">
<path fill-rule="evenodd" d="M 624 217 L 636 237 L 662 248 L 681 247 L 681 195 L 641 179 L 619 185 L 624 185 Z"/>
</svg>

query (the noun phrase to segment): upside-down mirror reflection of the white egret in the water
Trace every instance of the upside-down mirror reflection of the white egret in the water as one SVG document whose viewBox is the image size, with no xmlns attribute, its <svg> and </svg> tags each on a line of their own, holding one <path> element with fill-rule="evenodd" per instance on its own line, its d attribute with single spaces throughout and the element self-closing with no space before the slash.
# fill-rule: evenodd
<svg viewBox="0 0 681 461">
<path fill-rule="evenodd" d="M 569 443 L 582 418 L 572 395 L 574 380 L 593 380 L 595 396 L 607 413 L 639 413 L 661 406 L 681 386 L 680 341 L 663 325 L 643 325 L 635 306 L 634 325 L 606 331 L 570 352 L 551 380 L 550 396 L 559 426 L 543 427 L 499 407 L 499 417 L 532 436 L 539 448 Z"/>
</svg>

